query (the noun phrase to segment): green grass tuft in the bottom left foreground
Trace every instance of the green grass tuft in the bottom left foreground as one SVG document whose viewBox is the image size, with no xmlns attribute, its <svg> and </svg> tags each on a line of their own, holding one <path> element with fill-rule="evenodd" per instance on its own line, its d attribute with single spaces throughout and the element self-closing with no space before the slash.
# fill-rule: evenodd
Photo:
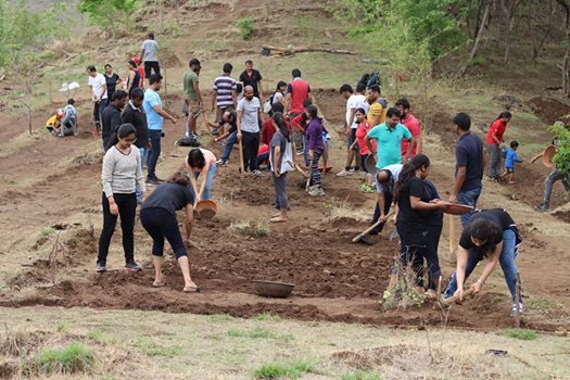
<svg viewBox="0 0 570 380">
<path fill-rule="evenodd" d="M 41 370 L 64 373 L 88 371 L 93 362 L 92 351 L 80 343 L 72 343 L 61 350 L 42 350 L 36 358 Z"/>
</svg>

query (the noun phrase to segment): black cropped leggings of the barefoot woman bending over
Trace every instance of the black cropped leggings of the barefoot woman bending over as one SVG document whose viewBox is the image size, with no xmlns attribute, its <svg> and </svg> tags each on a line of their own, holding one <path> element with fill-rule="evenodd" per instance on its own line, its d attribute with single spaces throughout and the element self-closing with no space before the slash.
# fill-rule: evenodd
<svg viewBox="0 0 570 380">
<path fill-rule="evenodd" d="M 140 221 L 152 238 L 153 256 L 163 255 L 164 238 L 170 243 L 176 258 L 188 255 L 178 229 L 176 215 L 161 207 L 142 208 L 140 211 Z"/>
</svg>

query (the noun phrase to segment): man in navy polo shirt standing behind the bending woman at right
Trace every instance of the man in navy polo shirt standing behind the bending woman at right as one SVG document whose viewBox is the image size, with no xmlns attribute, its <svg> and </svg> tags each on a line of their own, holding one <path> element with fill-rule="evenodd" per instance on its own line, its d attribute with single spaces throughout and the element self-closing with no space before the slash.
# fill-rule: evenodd
<svg viewBox="0 0 570 380">
<path fill-rule="evenodd" d="M 483 141 L 469 130 L 471 117 L 460 112 L 453 118 L 455 132 L 459 136 L 455 148 L 455 185 L 449 202 L 457 202 L 468 206 L 477 206 L 479 195 L 483 189 L 481 179 L 485 167 Z M 471 213 L 461 215 L 461 226 L 466 226 Z"/>
</svg>

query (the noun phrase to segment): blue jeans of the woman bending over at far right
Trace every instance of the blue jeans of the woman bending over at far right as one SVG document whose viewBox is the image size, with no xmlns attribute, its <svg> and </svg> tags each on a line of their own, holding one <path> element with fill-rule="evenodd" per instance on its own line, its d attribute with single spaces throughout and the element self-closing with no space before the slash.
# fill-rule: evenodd
<svg viewBox="0 0 570 380">
<path fill-rule="evenodd" d="M 519 269 L 517 268 L 517 263 L 515 262 L 515 258 L 517 258 L 516 244 L 517 236 L 515 235 L 515 231 L 511 229 L 503 231 L 503 251 L 501 251 L 501 257 L 498 259 L 498 263 L 501 264 L 501 268 L 503 269 L 503 274 L 505 275 L 505 281 L 507 282 L 508 290 L 510 291 L 510 297 L 512 302 L 515 302 L 515 300 L 517 299 L 516 279 L 517 273 L 519 271 Z M 467 266 L 465 268 L 466 281 L 467 278 L 469 278 L 469 275 L 471 275 L 473 269 L 477 267 L 477 264 L 481 258 L 482 257 L 476 254 L 474 251 L 469 250 L 469 257 L 467 258 Z M 445 290 L 444 297 L 452 296 L 456 290 L 457 279 L 456 274 L 454 273 L 452 278 L 449 279 L 449 284 Z M 522 302 L 522 294 L 519 295 L 519 301 Z"/>
</svg>

